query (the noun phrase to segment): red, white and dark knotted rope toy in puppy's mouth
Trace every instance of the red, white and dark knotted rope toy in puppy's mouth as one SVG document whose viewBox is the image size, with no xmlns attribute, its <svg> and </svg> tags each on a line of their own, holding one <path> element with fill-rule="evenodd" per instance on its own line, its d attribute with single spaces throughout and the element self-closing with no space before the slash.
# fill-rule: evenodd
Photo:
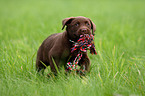
<svg viewBox="0 0 145 96">
<path fill-rule="evenodd" d="M 90 50 L 91 54 L 97 55 L 95 45 L 94 45 L 94 36 L 93 35 L 89 35 L 89 34 L 80 35 L 80 38 L 78 39 L 77 42 L 74 42 L 72 40 L 70 40 L 70 42 L 73 43 L 73 47 L 71 48 L 72 49 L 71 53 L 73 53 L 75 50 L 79 50 L 79 51 L 78 51 L 78 55 L 75 57 L 74 61 L 67 63 L 66 70 L 76 70 L 78 63 L 81 60 L 82 53 L 86 52 L 87 50 Z"/>
</svg>

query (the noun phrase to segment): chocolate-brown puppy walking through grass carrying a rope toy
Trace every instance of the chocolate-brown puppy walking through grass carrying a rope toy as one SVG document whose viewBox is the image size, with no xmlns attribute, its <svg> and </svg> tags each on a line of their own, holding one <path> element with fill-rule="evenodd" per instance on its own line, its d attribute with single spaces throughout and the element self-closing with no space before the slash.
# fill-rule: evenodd
<svg viewBox="0 0 145 96">
<path fill-rule="evenodd" d="M 36 69 L 38 72 L 50 65 L 51 71 L 56 73 L 52 58 L 54 59 L 58 69 L 62 66 L 66 68 L 68 60 L 74 60 L 77 55 L 77 51 L 71 54 L 73 43 L 70 42 L 70 40 L 77 41 L 80 35 L 83 34 L 94 35 L 96 30 L 95 24 L 89 18 L 82 16 L 66 18 L 62 21 L 62 24 L 62 30 L 65 25 L 67 26 L 66 31 L 49 36 L 40 46 L 36 59 Z M 90 60 L 87 53 L 83 53 L 78 65 L 80 66 L 80 70 L 85 68 L 85 71 L 89 71 Z"/>
</svg>

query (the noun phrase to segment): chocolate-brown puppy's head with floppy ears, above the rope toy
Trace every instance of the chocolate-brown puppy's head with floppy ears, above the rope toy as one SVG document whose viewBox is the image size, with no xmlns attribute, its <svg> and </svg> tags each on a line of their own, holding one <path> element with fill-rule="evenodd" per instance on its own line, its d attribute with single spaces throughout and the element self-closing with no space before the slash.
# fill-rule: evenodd
<svg viewBox="0 0 145 96">
<path fill-rule="evenodd" d="M 62 30 L 66 25 L 66 31 L 68 32 L 69 38 L 74 41 L 76 41 L 80 37 L 80 35 L 94 35 L 94 32 L 96 31 L 95 24 L 89 18 L 82 16 L 65 18 L 62 21 L 62 24 Z"/>
</svg>

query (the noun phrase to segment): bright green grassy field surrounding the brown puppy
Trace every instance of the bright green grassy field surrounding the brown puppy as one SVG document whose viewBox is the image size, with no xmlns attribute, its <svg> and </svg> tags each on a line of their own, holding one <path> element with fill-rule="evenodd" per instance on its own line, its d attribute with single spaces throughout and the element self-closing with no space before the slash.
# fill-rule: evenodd
<svg viewBox="0 0 145 96">
<path fill-rule="evenodd" d="M 37 75 L 36 52 L 62 20 L 96 24 L 86 77 Z M 0 96 L 145 96 L 144 0 L 1 0 Z"/>
</svg>

